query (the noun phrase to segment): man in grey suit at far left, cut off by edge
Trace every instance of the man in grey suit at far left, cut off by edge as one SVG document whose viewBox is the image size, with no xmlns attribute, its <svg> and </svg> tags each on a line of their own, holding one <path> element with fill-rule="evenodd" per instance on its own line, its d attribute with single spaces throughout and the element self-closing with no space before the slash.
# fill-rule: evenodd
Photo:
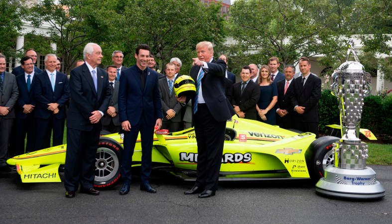
<svg viewBox="0 0 392 224">
<path fill-rule="evenodd" d="M 15 112 L 13 107 L 18 99 L 18 86 L 15 76 L 5 71 L 5 56 L 0 54 L 0 171 L 10 172 L 6 159 L 8 156 L 8 140 L 12 129 Z"/>
</svg>

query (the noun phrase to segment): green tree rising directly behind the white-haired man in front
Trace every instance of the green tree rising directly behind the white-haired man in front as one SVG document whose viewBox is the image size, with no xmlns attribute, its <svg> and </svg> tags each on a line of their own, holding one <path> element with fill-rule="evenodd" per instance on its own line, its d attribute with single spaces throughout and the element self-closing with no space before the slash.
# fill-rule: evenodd
<svg viewBox="0 0 392 224">
<path fill-rule="evenodd" d="M 49 25 L 47 41 L 57 44 L 63 55 L 65 73 L 83 56 L 88 42 L 103 43 L 113 36 L 112 10 L 116 1 L 109 0 L 41 0 L 30 8 L 29 20 L 35 27 Z"/>
</svg>

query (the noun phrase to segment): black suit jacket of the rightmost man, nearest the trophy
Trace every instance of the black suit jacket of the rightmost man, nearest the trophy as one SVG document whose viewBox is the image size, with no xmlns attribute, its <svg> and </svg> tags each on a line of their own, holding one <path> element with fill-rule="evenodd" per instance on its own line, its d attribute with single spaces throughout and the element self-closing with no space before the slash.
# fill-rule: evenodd
<svg viewBox="0 0 392 224">
<path fill-rule="evenodd" d="M 305 107 L 305 112 L 295 112 L 296 119 L 303 122 L 318 122 L 317 103 L 321 96 L 321 79 L 310 73 L 305 85 L 302 86 L 302 76 L 294 79 L 294 88 L 291 95 L 291 106 Z M 287 93 L 286 93 L 287 94 Z"/>
</svg>

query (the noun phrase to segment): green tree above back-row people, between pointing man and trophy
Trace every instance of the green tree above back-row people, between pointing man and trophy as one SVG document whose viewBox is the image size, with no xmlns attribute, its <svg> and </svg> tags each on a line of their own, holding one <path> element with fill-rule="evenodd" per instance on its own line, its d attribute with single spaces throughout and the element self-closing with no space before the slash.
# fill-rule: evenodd
<svg viewBox="0 0 392 224">
<path fill-rule="evenodd" d="M 243 54 L 256 51 L 264 63 L 272 56 L 278 57 L 284 66 L 300 56 L 334 54 L 343 45 L 331 28 L 338 17 L 331 12 L 331 4 L 321 2 L 237 0 L 230 8 L 230 34 Z M 312 16 L 315 13 L 319 15 Z"/>
</svg>

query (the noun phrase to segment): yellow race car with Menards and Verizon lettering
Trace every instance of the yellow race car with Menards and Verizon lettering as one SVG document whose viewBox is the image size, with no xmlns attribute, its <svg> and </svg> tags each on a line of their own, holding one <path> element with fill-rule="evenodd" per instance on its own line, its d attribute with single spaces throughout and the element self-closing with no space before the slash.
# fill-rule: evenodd
<svg viewBox="0 0 392 224">
<path fill-rule="evenodd" d="M 286 130 L 255 120 L 238 118 L 226 123 L 220 181 L 298 179 L 317 181 L 333 164 L 332 144 L 337 137 L 316 139 L 313 133 Z M 67 145 L 18 155 L 7 160 L 15 165 L 23 183 L 61 182 L 59 168 L 65 163 Z M 121 179 L 123 135 L 101 136 L 96 157 L 96 188 L 109 188 Z M 140 137 L 132 167 L 140 166 Z M 153 170 L 167 171 L 183 180 L 196 179 L 197 144 L 194 128 L 168 133 L 155 132 Z"/>
</svg>

